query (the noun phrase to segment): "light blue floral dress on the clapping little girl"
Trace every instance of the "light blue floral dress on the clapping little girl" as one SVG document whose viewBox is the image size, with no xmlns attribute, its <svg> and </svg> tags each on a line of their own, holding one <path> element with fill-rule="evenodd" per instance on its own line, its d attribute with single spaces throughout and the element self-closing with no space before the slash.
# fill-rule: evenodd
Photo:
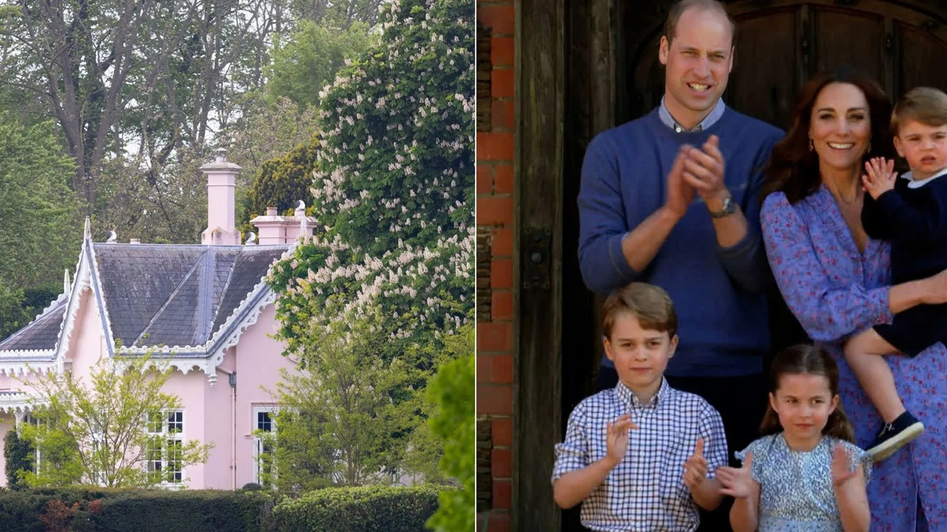
<svg viewBox="0 0 947 532">
<path fill-rule="evenodd" d="M 871 457 L 858 447 L 823 436 L 815 449 L 793 451 L 782 433 L 763 436 L 736 456 L 753 452 L 753 479 L 759 482 L 759 532 L 842 532 L 831 484 L 831 455 L 841 442 L 849 451 L 849 468 L 861 464 L 866 482 Z"/>
</svg>

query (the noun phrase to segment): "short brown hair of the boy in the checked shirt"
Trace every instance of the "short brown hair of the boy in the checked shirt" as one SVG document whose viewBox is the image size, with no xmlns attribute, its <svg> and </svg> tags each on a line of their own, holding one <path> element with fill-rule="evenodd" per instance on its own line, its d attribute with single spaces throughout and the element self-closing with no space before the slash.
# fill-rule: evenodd
<svg viewBox="0 0 947 532">
<path fill-rule="evenodd" d="M 612 328 L 618 314 L 629 313 L 638 320 L 641 328 L 668 332 L 671 338 L 677 334 L 677 312 L 674 303 L 664 289 L 648 283 L 632 283 L 616 290 L 605 300 L 605 317 L 602 333 L 611 340 Z"/>
</svg>

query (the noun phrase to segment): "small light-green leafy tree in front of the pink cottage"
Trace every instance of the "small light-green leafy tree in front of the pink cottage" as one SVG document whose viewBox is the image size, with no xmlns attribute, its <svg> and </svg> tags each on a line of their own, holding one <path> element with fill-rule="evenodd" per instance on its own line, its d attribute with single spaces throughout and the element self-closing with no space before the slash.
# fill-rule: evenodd
<svg viewBox="0 0 947 532">
<path fill-rule="evenodd" d="M 37 420 L 24 425 L 23 438 L 41 455 L 38 471 L 24 475 L 27 484 L 152 487 L 204 462 L 212 444 L 152 435 L 165 433 L 168 412 L 181 407 L 162 391 L 171 371 L 150 355 L 116 356 L 91 368 L 89 386 L 71 370 L 23 381 Z M 152 461 L 172 467 L 155 470 L 148 467 Z"/>
</svg>

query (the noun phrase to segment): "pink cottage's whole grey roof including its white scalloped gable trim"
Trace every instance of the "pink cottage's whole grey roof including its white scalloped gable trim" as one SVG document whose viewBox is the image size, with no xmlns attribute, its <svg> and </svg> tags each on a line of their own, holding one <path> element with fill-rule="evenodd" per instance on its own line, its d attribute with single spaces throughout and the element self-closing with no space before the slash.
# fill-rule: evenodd
<svg viewBox="0 0 947 532">
<path fill-rule="evenodd" d="M 81 293 L 91 290 L 110 354 L 113 339 L 132 353 L 162 346 L 155 356 L 184 359 L 172 364 L 186 373 L 201 367 L 212 374 L 223 349 L 276 299 L 264 277 L 294 245 L 101 243 L 92 241 L 86 219 L 75 283 L 0 342 L 0 372 L 22 370 L 21 363 L 34 359 L 62 364 Z"/>
</svg>

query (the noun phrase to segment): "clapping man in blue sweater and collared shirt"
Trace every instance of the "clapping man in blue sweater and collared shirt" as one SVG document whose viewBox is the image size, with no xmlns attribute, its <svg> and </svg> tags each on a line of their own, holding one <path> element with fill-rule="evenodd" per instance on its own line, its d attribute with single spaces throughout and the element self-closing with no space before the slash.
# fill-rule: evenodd
<svg viewBox="0 0 947 532">
<path fill-rule="evenodd" d="M 766 404 L 771 274 L 759 232 L 759 188 L 783 136 L 721 100 L 735 28 L 714 0 L 683 0 L 670 9 L 658 51 L 666 66 L 661 105 L 592 140 L 579 193 L 585 284 L 610 293 L 644 281 L 670 294 L 680 345 L 668 382 L 720 412 L 731 462 L 733 451 L 756 438 Z M 616 380 L 603 358 L 599 389 Z M 728 529 L 726 506 L 706 516 L 702 529 Z"/>
</svg>

